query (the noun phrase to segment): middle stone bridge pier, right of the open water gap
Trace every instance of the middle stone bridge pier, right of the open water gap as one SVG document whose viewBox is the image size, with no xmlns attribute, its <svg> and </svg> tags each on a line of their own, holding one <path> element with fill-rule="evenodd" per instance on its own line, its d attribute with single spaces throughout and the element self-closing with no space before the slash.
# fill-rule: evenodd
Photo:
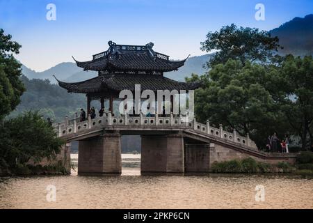
<svg viewBox="0 0 313 223">
<path fill-rule="evenodd" d="M 182 135 L 141 136 L 141 172 L 184 173 Z"/>
</svg>

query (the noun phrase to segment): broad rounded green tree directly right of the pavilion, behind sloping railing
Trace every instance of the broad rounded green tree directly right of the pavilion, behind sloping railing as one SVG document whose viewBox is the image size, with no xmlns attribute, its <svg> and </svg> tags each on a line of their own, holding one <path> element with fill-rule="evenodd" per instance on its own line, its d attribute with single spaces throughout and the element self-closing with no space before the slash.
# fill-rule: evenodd
<svg viewBox="0 0 313 223">
<path fill-rule="evenodd" d="M 268 134 L 284 134 L 288 128 L 278 102 L 280 74 L 274 66 L 261 66 L 246 61 L 228 60 L 214 66 L 206 75 L 193 75 L 187 81 L 201 80 L 202 88 L 195 91 L 195 114 L 199 121 L 207 119 L 226 130 L 250 134 L 259 148 L 265 146 Z"/>
</svg>

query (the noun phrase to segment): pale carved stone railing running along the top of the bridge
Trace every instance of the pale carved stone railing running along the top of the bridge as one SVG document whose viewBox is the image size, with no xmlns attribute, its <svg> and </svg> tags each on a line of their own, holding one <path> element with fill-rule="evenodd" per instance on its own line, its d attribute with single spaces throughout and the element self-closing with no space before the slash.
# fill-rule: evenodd
<svg viewBox="0 0 313 223">
<path fill-rule="evenodd" d="M 173 114 L 168 116 L 144 116 L 143 114 L 138 116 L 129 116 L 128 114 L 112 116 L 111 112 L 109 112 L 107 116 L 104 114 L 104 116 L 99 118 L 92 119 L 88 116 L 86 121 L 79 121 L 79 118 L 68 120 L 68 118 L 65 117 L 65 121 L 63 123 L 55 124 L 54 128 L 58 137 L 63 137 L 67 134 L 82 132 L 84 130 L 97 127 L 99 128 L 99 126 L 105 125 L 134 125 L 138 127 L 160 126 L 161 128 L 179 127 L 200 132 L 202 134 L 209 134 L 212 137 L 223 139 L 225 141 L 232 141 L 236 144 L 241 144 L 257 150 L 255 142 L 249 138 L 248 134 L 246 137 L 243 137 L 238 134 L 236 130 L 233 132 L 227 132 L 223 130 L 223 125 L 220 125 L 219 128 L 215 128 L 210 125 L 209 121 L 207 121 L 206 124 L 203 124 L 195 121 L 195 118 L 193 118 L 193 121 L 186 120 L 188 120 L 186 116 L 173 116 Z"/>
</svg>

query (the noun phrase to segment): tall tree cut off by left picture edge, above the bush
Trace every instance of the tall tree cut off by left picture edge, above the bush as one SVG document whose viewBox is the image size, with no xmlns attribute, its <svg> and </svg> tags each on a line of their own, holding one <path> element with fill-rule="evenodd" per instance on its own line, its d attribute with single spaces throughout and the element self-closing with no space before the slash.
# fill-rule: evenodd
<svg viewBox="0 0 313 223">
<path fill-rule="evenodd" d="M 19 54 L 19 45 L 0 29 L 0 120 L 17 107 L 20 96 L 25 91 L 19 77 L 22 75 L 21 64 L 13 54 Z"/>
</svg>

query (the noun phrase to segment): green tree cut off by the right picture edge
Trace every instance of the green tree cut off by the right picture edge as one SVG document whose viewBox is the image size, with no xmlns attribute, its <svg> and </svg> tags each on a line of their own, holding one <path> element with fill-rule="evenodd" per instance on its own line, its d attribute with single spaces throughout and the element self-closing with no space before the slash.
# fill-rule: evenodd
<svg viewBox="0 0 313 223">
<path fill-rule="evenodd" d="M 289 55 L 282 63 L 281 75 L 284 82 L 285 103 L 282 111 L 301 137 L 303 149 L 313 145 L 313 59 Z"/>
</svg>

